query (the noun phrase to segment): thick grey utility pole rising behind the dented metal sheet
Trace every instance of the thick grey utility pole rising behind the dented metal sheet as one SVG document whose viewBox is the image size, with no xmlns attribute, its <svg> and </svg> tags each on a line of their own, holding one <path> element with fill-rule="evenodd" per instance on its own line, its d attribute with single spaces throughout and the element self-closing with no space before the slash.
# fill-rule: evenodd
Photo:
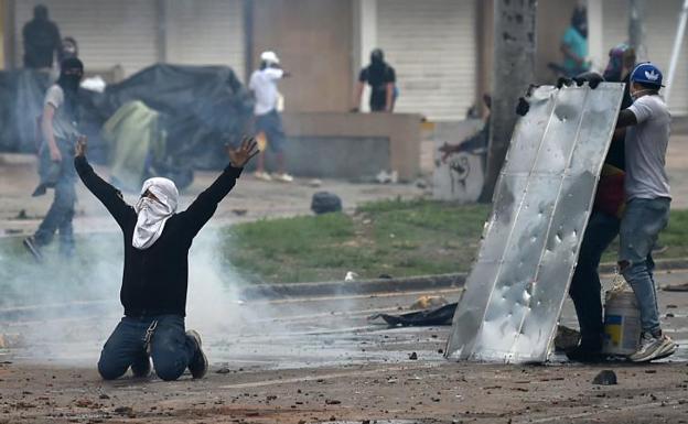
<svg viewBox="0 0 688 424">
<path fill-rule="evenodd" d="M 485 185 L 491 202 L 516 123 L 516 105 L 535 80 L 537 0 L 494 0 L 492 112 Z"/>
</svg>

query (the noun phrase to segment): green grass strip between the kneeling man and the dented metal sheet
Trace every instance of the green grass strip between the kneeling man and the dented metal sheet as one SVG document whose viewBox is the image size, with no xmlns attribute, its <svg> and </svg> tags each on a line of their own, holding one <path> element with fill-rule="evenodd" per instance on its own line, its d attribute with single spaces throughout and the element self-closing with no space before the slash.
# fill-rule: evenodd
<svg viewBox="0 0 688 424">
<path fill-rule="evenodd" d="M 387 200 L 353 216 L 260 220 L 226 229 L 226 261 L 249 281 L 308 282 L 466 271 L 490 209 Z"/>
</svg>

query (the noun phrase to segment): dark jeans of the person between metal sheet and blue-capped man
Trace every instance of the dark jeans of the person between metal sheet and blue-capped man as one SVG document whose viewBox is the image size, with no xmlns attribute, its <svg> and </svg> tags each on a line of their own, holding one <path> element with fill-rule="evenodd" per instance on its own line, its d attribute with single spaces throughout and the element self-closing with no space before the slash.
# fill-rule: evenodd
<svg viewBox="0 0 688 424">
<path fill-rule="evenodd" d="M 604 331 L 600 274 L 598 267 L 602 253 L 619 233 L 620 219 L 593 210 L 581 242 L 578 264 L 571 279 L 569 294 L 576 306 L 576 315 L 581 330 L 581 346 L 591 350 L 602 348 Z"/>
</svg>

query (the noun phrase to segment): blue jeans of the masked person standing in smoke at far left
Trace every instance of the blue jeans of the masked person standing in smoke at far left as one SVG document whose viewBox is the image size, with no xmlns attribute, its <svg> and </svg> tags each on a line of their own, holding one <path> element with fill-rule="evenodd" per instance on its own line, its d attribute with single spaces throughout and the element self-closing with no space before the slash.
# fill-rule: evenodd
<svg viewBox="0 0 688 424">
<path fill-rule="evenodd" d="M 45 218 L 34 233 L 34 239 L 39 246 L 45 246 L 53 240 L 55 231 L 60 233 L 60 251 L 65 256 L 74 253 L 74 204 L 76 203 L 76 170 L 74 168 L 74 146 L 65 140 L 56 140 L 57 149 L 62 154 L 62 162 L 52 164 L 50 150 L 43 146 L 39 157 L 39 173 L 44 180 L 50 173 L 51 166 L 57 166 L 54 184 L 55 197 Z"/>
</svg>

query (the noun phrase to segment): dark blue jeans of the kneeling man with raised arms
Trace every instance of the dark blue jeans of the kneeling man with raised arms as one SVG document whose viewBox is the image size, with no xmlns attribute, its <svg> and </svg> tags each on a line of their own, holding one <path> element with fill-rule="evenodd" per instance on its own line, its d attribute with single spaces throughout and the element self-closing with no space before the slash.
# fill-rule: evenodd
<svg viewBox="0 0 688 424">
<path fill-rule="evenodd" d="M 105 380 L 117 379 L 132 365 L 148 360 L 147 348 L 155 373 L 166 381 L 176 380 L 196 352 L 196 344 L 185 334 L 182 316 L 125 316 L 103 347 L 98 372 Z"/>
</svg>

